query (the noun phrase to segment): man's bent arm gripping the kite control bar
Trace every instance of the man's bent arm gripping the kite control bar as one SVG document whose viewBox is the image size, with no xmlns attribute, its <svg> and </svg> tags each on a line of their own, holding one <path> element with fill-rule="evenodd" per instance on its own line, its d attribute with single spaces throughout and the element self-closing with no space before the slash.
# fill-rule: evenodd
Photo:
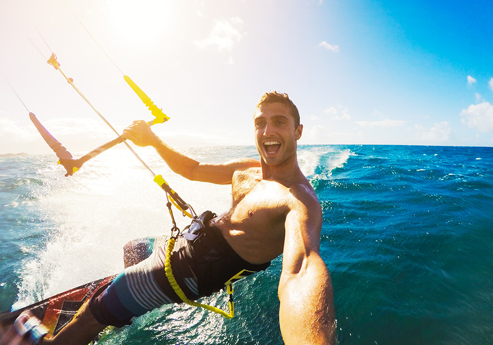
<svg viewBox="0 0 493 345">
<path fill-rule="evenodd" d="M 236 159 L 224 164 L 197 162 L 164 143 L 145 121 L 134 121 L 123 131 L 123 136 L 138 146 L 153 146 L 172 171 L 193 181 L 230 184 L 235 171 L 260 167 L 260 163 L 252 158 Z"/>
</svg>

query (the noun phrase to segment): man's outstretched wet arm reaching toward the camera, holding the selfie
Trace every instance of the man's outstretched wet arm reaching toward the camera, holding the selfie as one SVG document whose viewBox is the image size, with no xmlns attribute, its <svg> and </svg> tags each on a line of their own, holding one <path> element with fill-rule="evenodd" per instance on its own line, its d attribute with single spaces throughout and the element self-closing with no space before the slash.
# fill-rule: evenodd
<svg viewBox="0 0 493 345">
<path fill-rule="evenodd" d="M 303 199 L 286 216 L 279 281 L 282 339 L 288 345 L 334 344 L 332 282 L 319 255 L 321 209 L 316 197 Z"/>
</svg>

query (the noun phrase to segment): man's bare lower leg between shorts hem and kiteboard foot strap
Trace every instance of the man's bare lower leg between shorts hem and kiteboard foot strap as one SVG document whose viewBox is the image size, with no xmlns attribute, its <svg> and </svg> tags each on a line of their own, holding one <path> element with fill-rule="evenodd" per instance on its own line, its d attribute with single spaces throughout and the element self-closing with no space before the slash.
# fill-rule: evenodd
<svg viewBox="0 0 493 345">
<path fill-rule="evenodd" d="M 72 321 L 70 321 L 60 333 L 53 338 L 44 338 L 41 344 L 87 345 L 91 343 L 106 326 L 107 325 L 103 325 L 96 321 L 89 309 L 89 303 L 86 302 L 81 307 L 79 313 L 75 315 Z"/>
</svg>

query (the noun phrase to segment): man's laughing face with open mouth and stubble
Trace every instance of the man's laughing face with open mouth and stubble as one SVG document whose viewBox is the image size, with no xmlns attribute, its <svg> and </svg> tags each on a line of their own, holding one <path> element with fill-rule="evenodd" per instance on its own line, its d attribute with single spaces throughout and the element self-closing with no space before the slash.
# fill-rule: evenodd
<svg viewBox="0 0 493 345">
<path fill-rule="evenodd" d="M 255 144 L 260 158 L 270 166 L 277 166 L 296 157 L 298 140 L 303 125 L 295 128 L 288 108 L 278 102 L 262 104 L 253 117 Z"/>
</svg>

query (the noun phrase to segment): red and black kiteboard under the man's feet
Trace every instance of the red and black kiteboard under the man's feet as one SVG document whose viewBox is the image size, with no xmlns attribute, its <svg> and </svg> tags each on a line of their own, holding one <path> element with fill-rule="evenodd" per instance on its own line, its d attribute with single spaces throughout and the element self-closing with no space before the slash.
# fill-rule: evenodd
<svg viewBox="0 0 493 345">
<path fill-rule="evenodd" d="M 22 309 L 2 312 L 0 313 L 0 325 L 6 329 L 14 323 L 20 314 L 29 311 L 41 320 L 48 329 L 50 336 L 55 336 L 69 324 L 84 302 L 88 301 L 100 287 L 110 283 L 115 277 L 116 275 L 97 279 Z"/>
</svg>

